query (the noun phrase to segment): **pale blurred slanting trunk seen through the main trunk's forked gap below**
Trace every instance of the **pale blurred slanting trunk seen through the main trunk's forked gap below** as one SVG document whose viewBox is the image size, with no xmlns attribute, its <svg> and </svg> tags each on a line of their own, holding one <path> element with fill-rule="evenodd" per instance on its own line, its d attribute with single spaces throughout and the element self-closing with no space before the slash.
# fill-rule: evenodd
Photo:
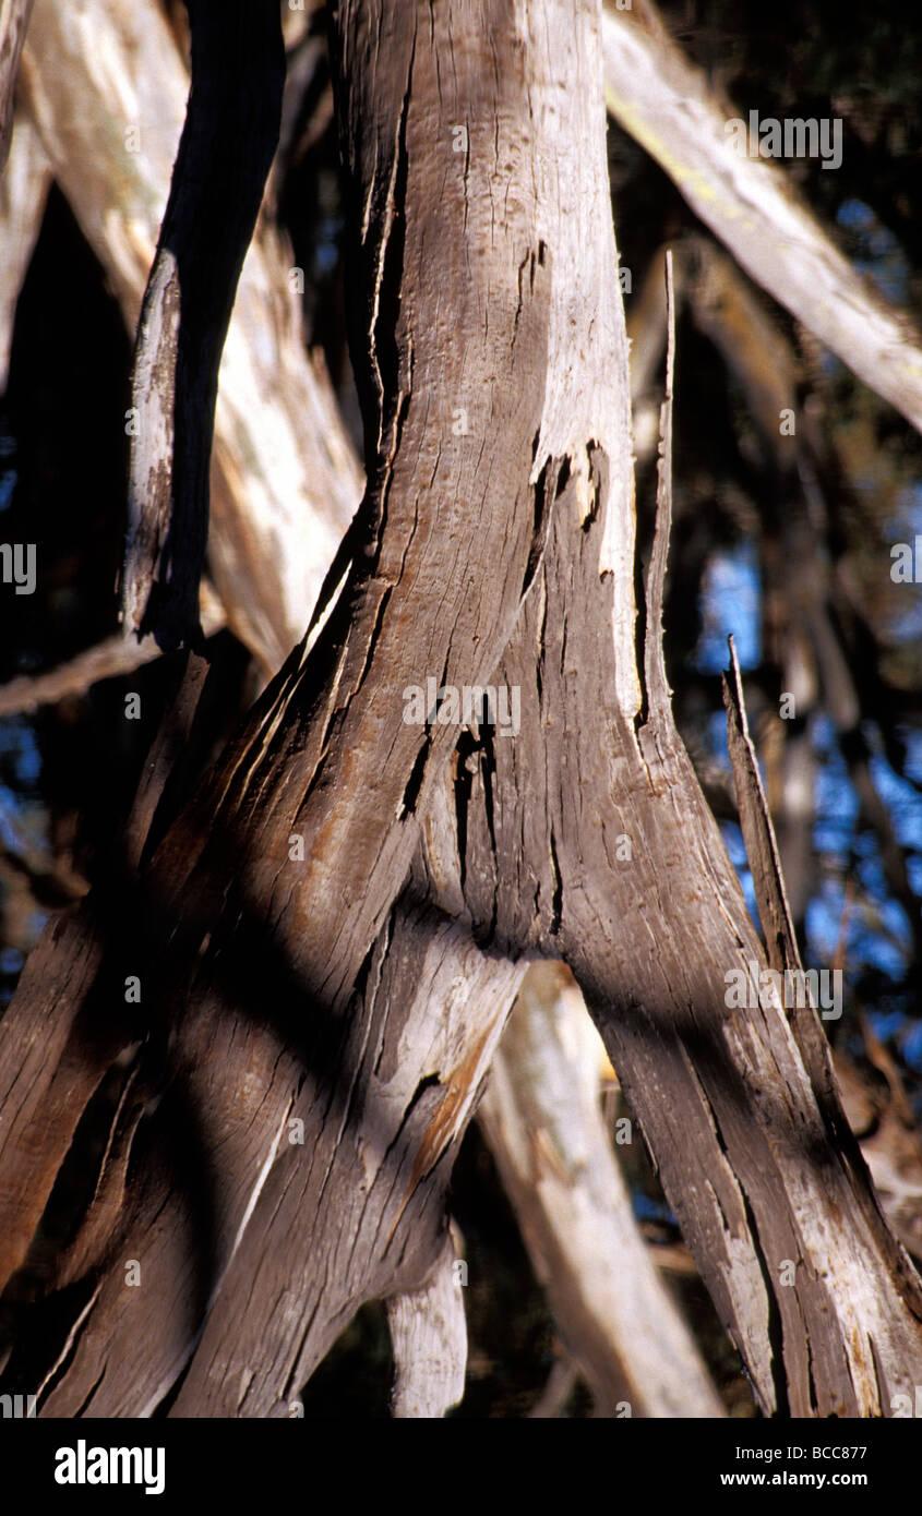
<svg viewBox="0 0 922 1516">
<path fill-rule="evenodd" d="M 720 1417 L 611 1151 L 601 1054 L 572 976 L 535 964 L 493 1055 L 479 1120 L 596 1414 Z"/>
</svg>

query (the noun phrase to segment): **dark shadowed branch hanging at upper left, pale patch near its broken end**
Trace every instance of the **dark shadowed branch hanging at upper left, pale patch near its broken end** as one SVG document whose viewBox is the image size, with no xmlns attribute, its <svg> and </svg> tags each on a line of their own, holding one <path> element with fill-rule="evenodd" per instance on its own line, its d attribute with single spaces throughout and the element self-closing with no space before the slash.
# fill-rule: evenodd
<svg viewBox="0 0 922 1516">
<path fill-rule="evenodd" d="M 218 18 L 190 0 L 188 11 L 190 103 L 135 347 L 121 581 L 126 631 L 153 631 L 165 649 L 200 637 L 218 364 L 279 139 L 285 79 L 271 6 L 227 0 Z"/>
</svg>

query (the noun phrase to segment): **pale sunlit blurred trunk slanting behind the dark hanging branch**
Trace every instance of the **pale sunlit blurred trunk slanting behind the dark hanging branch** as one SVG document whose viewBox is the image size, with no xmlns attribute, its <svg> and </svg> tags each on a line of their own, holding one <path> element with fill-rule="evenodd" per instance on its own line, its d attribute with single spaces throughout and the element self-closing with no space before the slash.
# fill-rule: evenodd
<svg viewBox="0 0 922 1516">
<path fill-rule="evenodd" d="M 21 94 L 133 334 L 188 96 L 161 8 L 36 0 Z M 209 575 L 265 678 L 303 635 L 362 490 L 329 381 L 305 352 L 293 264 L 261 221 L 221 358 L 211 465 Z"/>
</svg>

